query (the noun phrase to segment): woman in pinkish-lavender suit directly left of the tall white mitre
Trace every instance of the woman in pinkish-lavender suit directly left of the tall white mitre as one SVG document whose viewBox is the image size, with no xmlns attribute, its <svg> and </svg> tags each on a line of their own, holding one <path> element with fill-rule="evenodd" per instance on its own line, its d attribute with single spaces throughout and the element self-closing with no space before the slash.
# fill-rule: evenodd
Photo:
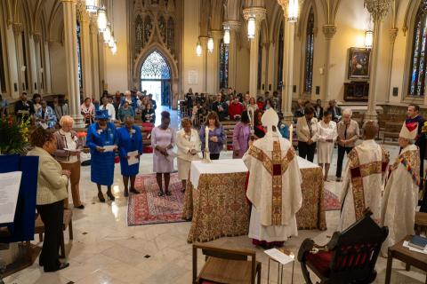
<svg viewBox="0 0 427 284">
<path fill-rule="evenodd" d="M 240 122 L 233 130 L 233 159 L 241 159 L 249 147 L 251 137 L 251 127 L 249 125 L 249 115 L 247 111 L 242 113 Z"/>
</svg>

